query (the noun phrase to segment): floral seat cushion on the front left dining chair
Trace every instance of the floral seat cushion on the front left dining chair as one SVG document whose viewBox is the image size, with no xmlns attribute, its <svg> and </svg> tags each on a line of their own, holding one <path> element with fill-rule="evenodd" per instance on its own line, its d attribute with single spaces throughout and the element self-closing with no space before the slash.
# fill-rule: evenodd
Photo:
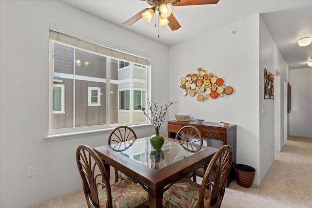
<svg viewBox="0 0 312 208">
<path fill-rule="evenodd" d="M 121 180 L 111 184 L 113 208 L 145 208 L 148 206 L 148 193 L 133 181 Z M 106 190 L 98 192 L 100 208 L 106 208 Z"/>
</svg>

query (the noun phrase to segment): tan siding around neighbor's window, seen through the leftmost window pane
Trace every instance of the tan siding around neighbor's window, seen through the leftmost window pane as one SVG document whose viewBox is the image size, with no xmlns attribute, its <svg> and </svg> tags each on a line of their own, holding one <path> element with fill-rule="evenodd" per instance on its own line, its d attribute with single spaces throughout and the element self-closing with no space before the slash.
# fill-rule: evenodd
<svg viewBox="0 0 312 208">
<path fill-rule="evenodd" d="M 73 127 L 73 79 L 56 82 L 65 86 L 65 113 L 53 114 L 53 129 Z"/>
</svg>

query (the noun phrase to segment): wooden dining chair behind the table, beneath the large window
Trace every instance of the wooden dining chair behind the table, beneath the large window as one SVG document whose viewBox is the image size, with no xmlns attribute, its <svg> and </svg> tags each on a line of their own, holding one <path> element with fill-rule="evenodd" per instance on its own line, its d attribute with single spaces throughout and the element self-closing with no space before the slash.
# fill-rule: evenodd
<svg viewBox="0 0 312 208">
<path fill-rule="evenodd" d="M 137 134 L 128 126 L 118 126 L 109 134 L 108 136 L 108 144 L 121 143 L 125 141 L 136 140 Z M 115 182 L 118 180 L 132 180 L 128 176 L 126 176 L 123 172 L 120 172 L 115 168 Z"/>
</svg>

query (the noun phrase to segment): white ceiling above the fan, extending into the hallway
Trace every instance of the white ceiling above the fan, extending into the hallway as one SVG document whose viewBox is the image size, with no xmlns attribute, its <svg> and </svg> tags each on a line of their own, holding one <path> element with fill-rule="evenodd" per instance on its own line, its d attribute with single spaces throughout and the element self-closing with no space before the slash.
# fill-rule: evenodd
<svg viewBox="0 0 312 208">
<path fill-rule="evenodd" d="M 298 39 L 312 37 L 312 0 L 220 0 L 217 4 L 172 6 L 181 28 L 155 27 L 144 19 L 131 26 L 122 23 L 150 5 L 143 0 L 62 0 L 142 36 L 168 46 L 215 30 L 241 19 L 261 14 L 271 36 L 290 69 L 306 68 L 312 44 L 299 47 Z"/>
</svg>

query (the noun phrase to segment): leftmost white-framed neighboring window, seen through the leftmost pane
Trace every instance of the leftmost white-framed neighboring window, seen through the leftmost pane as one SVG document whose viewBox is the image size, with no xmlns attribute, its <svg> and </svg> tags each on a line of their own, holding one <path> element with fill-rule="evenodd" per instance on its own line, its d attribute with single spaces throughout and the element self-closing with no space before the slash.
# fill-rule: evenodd
<svg viewBox="0 0 312 208">
<path fill-rule="evenodd" d="M 53 84 L 53 113 L 65 113 L 65 85 Z"/>
</svg>

